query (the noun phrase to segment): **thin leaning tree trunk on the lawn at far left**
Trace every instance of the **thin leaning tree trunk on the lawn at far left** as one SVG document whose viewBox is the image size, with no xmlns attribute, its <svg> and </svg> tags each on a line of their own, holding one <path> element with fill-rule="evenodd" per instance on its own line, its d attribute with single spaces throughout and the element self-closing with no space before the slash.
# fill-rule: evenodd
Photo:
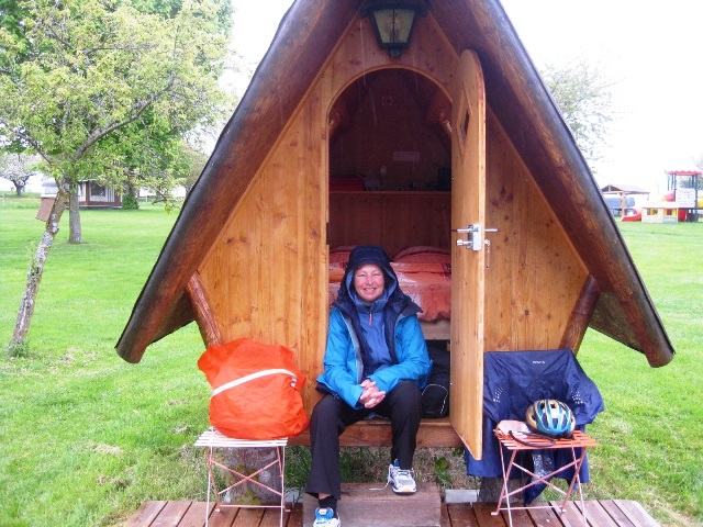
<svg viewBox="0 0 703 527">
<path fill-rule="evenodd" d="M 26 285 L 24 288 L 24 294 L 22 295 L 22 302 L 20 303 L 20 311 L 18 312 L 18 319 L 14 323 L 14 332 L 12 333 L 12 339 L 10 340 L 10 347 L 22 345 L 26 340 L 26 334 L 30 332 L 30 325 L 32 324 L 32 316 L 34 316 L 34 303 L 40 290 L 40 283 L 42 282 L 42 274 L 44 272 L 44 264 L 48 257 L 48 253 L 54 245 L 56 233 L 58 233 L 58 222 L 62 220 L 66 204 L 68 203 L 68 192 L 64 189 L 64 186 L 58 186 L 58 193 L 54 200 L 54 206 L 49 214 L 48 221 L 44 228 L 44 235 L 40 240 L 32 262 L 30 264 L 30 270 L 26 273 Z"/>
</svg>

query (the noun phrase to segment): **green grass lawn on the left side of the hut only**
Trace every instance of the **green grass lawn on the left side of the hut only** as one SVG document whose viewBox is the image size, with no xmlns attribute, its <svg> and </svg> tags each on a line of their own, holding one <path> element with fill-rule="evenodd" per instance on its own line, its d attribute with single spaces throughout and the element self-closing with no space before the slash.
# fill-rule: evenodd
<svg viewBox="0 0 703 527">
<path fill-rule="evenodd" d="M 8 200 L 9 201 L 9 200 Z M 36 208 L 0 209 L 0 343 L 11 337 Z M 159 208 L 86 211 L 80 246 L 59 232 L 30 356 L 0 361 L 0 525 L 120 525 L 146 500 L 204 501 L 209 385 L 188 327 L 130 365 L 114 345 L 172 225 Z"/>
</svg>

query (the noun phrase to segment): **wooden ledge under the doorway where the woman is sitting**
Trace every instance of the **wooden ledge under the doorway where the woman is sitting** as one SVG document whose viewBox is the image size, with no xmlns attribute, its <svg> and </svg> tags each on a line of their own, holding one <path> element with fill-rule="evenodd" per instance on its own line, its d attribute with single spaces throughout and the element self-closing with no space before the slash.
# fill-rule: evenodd
<svg viewBox="0 0 703 527">
<path fill-rule="evenodd" d="M 375 418 L 349 426 L 341 437 L 343 447 L 388 447 L 391 445 L 391 423 Z M 288 440 L 288 445 L 310 445 L 310 430 L 304 430 Z M 464 447 L 449 417 L 422 419 L 417 431 L 419 447 Z"/>
</svg>

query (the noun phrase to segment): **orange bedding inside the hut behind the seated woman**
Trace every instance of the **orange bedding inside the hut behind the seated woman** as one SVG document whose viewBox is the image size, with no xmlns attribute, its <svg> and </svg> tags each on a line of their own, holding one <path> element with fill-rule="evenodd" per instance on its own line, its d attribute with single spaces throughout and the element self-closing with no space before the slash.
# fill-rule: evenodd
<svg viewBox="0 0 703 527">
<path fill-rule="evenodd" d="M 425 322 L 451 318 L 451 266 L 448 264 L 391 262 L 400 289 L 421 309 Z M 344 276 L 342 262 L 330 264 L 330 304 L 337 298 Z"/>
</svg>

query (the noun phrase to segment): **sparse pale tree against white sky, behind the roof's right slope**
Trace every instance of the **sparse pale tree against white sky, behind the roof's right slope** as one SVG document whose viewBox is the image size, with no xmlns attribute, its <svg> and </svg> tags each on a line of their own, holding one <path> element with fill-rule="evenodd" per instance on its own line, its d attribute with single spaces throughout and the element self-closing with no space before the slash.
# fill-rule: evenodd
<svg viewBox="0 0 703 527">
<path fill-rule="evenodd" d="M 613 121 L 614 82 L 584 59 L 566 66 L 549 64 L 540 72 L 585 158 L 601 159 Z"/>
</svg>

